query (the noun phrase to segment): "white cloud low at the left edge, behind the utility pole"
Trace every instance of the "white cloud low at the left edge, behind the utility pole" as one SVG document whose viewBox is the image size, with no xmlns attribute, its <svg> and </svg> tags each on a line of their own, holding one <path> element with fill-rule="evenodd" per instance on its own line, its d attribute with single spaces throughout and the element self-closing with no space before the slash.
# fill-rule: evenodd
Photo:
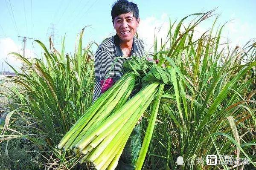
<svg viewBox="0 0 256 170">
<path fill-rule="evenodd" d="M 23 55 L 23 47 L 17 45 L 14 40 L 9 37 L 0 39 L 0 71 L 13 72 L 12 68 L 7 63 L 15 69 L 20 70 L 19 67 L 22 66 L 21 61 L 13 55 L 8 55 L 10 52 L 17 52 Z M 27 58 L 34 58 L 33 54 L 34 52 L 32 50 L 26 49 Z"/>
</svg>

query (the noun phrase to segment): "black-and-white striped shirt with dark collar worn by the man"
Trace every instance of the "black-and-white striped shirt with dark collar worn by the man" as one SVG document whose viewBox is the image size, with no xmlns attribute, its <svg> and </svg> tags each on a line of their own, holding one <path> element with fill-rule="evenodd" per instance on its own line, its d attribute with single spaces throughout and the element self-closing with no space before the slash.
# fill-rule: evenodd
<svg viewBox="0 0 256 170">
<path fill-rule="evenodd" d="M 96 51 L 94 60 L 95 86 L 93 90 L 93 102 L 102 95 L 102 80 L 113 78 L 113 82 L 118 81 L 123 75 L 122 64 L 129 58 L 122 57 L 122 49 L 119 46 L 120 40 L 117 35 L 104 40 Z M 144 56 L 144 43 L 139 38 L 134 37 L 131 49 L 131 56 L 142 58 Z M 116 63 L 113 65 L 115 59 Z"/>
</svg>

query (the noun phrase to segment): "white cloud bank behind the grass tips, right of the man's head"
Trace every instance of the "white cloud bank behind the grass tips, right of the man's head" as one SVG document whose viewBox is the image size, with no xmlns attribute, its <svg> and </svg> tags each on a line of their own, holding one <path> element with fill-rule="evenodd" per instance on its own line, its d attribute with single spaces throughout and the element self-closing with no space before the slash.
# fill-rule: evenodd
<svg viewBox="0 0 256 170">
<path fill-rule="evenodd" d="M 177 20 L 177 22 L 179 22 L 179 20 Z M 187 26 L 188 23 L 189 23 L 189 20 L 184 21 L 185 26 Z M 217 23 L 214 29 L 215 31 L 217 30 L 218 24 L 219 22 L 217 20 Z M 176 26 L 177 25 L 175 25 L 174 28 Z M 212 26 L 212 23 L 210 23 L 209 25 L 209 22 L 207 24 L 203 21 L 202 23 L 200 23 L 198 26 L 195 27 L 195 32 L 193 37 L 195 37 L 196 39 L 201 37 L 201 35 L 204 32 L 208 31 L 211 28 L 211 26 Z M 145 42 L 145 51 L 146 52 L 154 51 L 154 48 L 153 48 L 154 35 L 157 36 L 157 42 L 159 46 L 161 38 L 163 42 L 166 40 L 168 31 L 169 31 L 169 16 L 165 13 L 162 14 L 160 18 L 147 17 L 144 20 L 140 20 L 138 35 L 140 39 L 142 39 Z M 215 34 L 212 34 L 212 36 L 214 35 Z M 247 43 L 249 40 L 254 39 L 255 41 L 256 32 L 254 32 L 254 28 L 252 24 L 241 21 L 241 20 L 232 20 L 224 26 L 221 36 L 223 37 L 221 38 L 221 41 L 220 41 L 221 43 L 227 43 L 227 38 L 228 38 L 230 42 L 230 46 L 243 47 L 245 43 Z"/>
</svg>

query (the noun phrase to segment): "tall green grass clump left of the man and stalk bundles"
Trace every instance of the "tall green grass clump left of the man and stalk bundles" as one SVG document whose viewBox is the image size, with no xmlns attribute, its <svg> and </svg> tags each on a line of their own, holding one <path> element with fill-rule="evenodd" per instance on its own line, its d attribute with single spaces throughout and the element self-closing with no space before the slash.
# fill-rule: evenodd
<svg viewBox="0 0 256 170">
<path fill-rule="evenodd" d="M 26 126 L 17 137 L 29 138 L 41 146 L 47 159 L 53 153 L 52 158 L 67 161 L 63 158 L 65 153 L 63 155 L 55 147 L 92 101 L 94 71 L 90 48 L 93 43 L 82 49 L 83 31 L 84 29 L 77 52 L 73 56 L 65 55 L 64 40 L 61 53 L 55 50 L 51 40 L 51 52 L 43 43 L 35 40 L 44 50 L 45 62 L 40 59 L 29 61 L 17 53 L 11 53 L 25 63 L 25 68 L 22 73 L 15 70 L 17 75 L 10 77 L 18 86 L 15 91 L 10 89 L 6 94 L 14 99 L 10 107 L 17 109 L 12 115 L 8 130 L 15 132 L 15 121 L 17 117 L 22 117 Z M 4 130 L 7 130 L 5 127 Z M 9 135 L 3 132 L 2 140 L 8 139 Z"/>
</svg>

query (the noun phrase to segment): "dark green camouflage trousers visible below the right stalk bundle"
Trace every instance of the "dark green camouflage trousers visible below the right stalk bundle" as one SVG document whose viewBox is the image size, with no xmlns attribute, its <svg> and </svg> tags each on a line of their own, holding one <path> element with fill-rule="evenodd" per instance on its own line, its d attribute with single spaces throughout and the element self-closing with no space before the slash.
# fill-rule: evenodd
<svg viewBox="0 0 256 170">
<path fill-rule="evenodd" d="M 134 127 L 122 155 L 119 158 L 116 170 L 134 170 L 141 148 L 140 124 Z"/>
</svg>

